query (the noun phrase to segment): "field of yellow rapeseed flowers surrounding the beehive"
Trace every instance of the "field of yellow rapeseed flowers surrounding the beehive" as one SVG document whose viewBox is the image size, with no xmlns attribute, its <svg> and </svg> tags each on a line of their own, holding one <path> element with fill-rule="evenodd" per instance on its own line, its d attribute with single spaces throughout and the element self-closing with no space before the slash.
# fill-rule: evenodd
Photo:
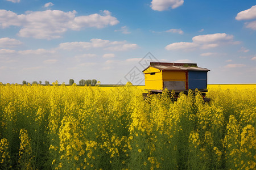
<svg viewBox="0 0 256 170">
<path fill-rule="evenodd" d="M 255 169 L 256 88 L 0 84 L 0 169 Z"/>
</svg>

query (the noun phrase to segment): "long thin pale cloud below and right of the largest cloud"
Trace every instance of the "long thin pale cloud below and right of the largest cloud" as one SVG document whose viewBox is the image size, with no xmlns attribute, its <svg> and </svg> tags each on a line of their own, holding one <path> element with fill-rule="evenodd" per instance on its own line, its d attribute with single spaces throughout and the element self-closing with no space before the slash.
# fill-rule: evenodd
<svg viewBox="0 0 256 170">
<path fill-rule="evenodd" d="M 60 49 L 82 50 L 91 48 L 104 48 L 105 50 L 124 51 L 137 49 L 137 44 L 128 44 L 126 41 L 109 41 L 102 39 L 91 39 L 90 42 L 64 42 L 59 45 Z"/>
</svg>

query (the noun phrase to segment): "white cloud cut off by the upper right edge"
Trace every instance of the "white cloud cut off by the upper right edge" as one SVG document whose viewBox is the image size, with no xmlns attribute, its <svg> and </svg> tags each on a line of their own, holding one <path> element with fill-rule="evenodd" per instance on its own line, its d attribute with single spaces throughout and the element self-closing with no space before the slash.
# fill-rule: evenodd
<svg viewBox="0 0 256 170">
<path fill-rule="evenodd" d="M 256 5 L 251 6 L 251 8 L 247 10 L 239 12 L 236 16 L 236 20 L 251 20 L 251 19 L 256 19 Z M 252 22 L 246 22 L 245 27 L 256 30 L 256 20 Z"/>
</svg>

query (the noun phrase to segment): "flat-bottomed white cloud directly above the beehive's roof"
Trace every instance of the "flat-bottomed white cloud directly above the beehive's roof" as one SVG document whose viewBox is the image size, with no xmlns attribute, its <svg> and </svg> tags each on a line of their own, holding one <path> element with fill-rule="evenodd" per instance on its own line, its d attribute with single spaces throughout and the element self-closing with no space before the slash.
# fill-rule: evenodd
<svg viewBox="0 0 256 170">
<path fill-rule="evenodd" d="M 239 41 L 233 41 L 233 35 L 226 33 L 214 33 L 208 35 L 199 35 L 192 38 L 192 42 L 174 42 L 166 46 L 167 50 L 188 50 L 188 49 L 209 49 L 225 44 L 239 44 Z"/>
</svg>

